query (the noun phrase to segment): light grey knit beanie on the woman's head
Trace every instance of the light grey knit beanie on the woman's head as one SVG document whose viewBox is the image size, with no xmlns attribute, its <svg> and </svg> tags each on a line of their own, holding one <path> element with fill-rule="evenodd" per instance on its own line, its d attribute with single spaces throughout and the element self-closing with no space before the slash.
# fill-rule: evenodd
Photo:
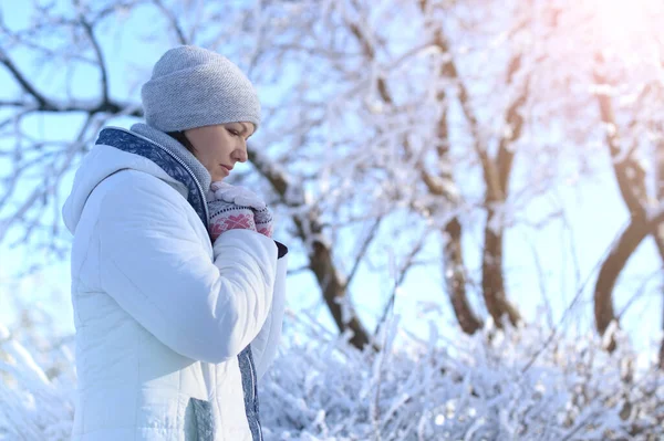
<svg viewBox="0 0 664 441">
<path fill-rule="evenodd" d="M 145 120 L 162 132 L 215 124 L 260 124 L 251 82 L 227 57 L 197 46 L 167 51 L 141 90 Z"/>
</svg>

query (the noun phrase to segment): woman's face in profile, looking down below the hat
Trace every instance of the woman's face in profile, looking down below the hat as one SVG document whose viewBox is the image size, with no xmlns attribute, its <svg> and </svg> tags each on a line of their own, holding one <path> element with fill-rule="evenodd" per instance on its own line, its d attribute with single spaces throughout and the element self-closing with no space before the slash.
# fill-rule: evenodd
<svg viewBox="0 0 664 441">
<path fill-rule="evenodd" d="M 230 175 L 236 162 L 247 161 L 247 139 L 253 130 L 251 123 L 228 123 L 190 128 L 185 135 L 215 182 Z"/>
</svg>

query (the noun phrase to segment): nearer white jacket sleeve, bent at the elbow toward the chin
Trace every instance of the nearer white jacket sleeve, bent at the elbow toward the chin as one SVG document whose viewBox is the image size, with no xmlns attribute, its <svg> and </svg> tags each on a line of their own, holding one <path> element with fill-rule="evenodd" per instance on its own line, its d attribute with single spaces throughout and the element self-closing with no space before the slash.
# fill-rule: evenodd
<svg viewBox="0 0 664 441">
<path fill-rule="evenodd" d="M 106 180 L 97 220 L 102 288 L 174 351 L 215 364 L 237 356 L 270 311 L 277 245 L 230 230 L 215 242 L 212 262 L 181 196 L 138 175 Z"/>
</svg>

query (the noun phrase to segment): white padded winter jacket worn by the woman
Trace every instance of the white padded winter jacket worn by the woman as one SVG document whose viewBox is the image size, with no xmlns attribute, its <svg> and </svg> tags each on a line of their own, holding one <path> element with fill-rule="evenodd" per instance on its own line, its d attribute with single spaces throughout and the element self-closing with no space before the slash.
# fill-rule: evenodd
<svg viewBox="0 0 664 441">
<path fill-rule="evenodd" d="M 102 130 L 63 208 L 72 440 L 262 439 L 256 385 L 281 334 L 287 250 L 250 230 L 212 245 L 205 216 L 205 191 L 177 157 Z"/>
</svg>

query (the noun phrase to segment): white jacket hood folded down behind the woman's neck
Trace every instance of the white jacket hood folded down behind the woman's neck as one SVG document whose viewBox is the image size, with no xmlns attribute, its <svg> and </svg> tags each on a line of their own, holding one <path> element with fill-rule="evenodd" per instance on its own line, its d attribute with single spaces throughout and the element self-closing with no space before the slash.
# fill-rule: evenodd
<svg viewBox="0 0 664 441">
<path fill-rule="evenodd" d="M 114 130 L 121 130 L 125 134 L 131 134 L 124 129 L 114 128 Z M 184 183 L 172 178 L 153 160 L 141 155 L 123 151 L 116 147 L 97 144 L 92 148 L 87 156 L 85 156 L 81 162 L 81 166 L 76 170 L 72 191 L 66 198 L 66 201 L 62 208 L 62 219 L 72 234 L 76 231 L 76 225 L 81 220 L 81 214 L 83 213 L 85 202 L 96 186 L 111 175 L 125 169 L 137 170 L 153 175 L 156 178 L 163 179 L 176 187 L 176 189 L 178 189 L 180 192 L 184 192 L 184 195 L 187 193 L 187 189 L 185 188 Z"/>
</svg>

